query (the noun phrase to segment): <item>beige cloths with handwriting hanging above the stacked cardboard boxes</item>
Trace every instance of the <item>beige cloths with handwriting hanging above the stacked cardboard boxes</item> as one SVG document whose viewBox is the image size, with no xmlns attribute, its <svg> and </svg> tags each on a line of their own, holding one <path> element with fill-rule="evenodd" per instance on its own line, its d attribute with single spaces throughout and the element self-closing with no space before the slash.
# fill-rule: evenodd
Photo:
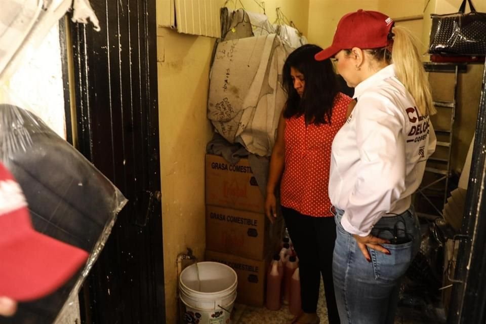
<svg viewBox="0 0 486 324">
<path fill-rule="evenodd" d="M 277 14 L 278 24 L 272 25 L 265 14 L 222 8 L 224 42 L 216 45 L 210 75 L 208 118 L 216 132 L 260 156 L 271 153 L 286 101 L 280 84 L 285 60 L 294 48 L 307 44 L 279 10 Z"/>
</svg>

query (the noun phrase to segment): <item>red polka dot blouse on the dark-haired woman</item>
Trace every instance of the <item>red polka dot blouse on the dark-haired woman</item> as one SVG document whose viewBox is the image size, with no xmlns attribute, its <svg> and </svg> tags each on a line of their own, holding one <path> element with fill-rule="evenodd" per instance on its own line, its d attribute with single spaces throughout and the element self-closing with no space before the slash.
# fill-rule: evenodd
<svg viewBox="0 0 486 324">
<path fill-rule="evenodd" d="M 280 184 L 281 204 L 303 215 L 333 216 L 328 194 L 331 145 L 346 122 L 351 98 L 339 93 L 331 124 L 305 125 L 304 115 L 286 119 L 285 169 Z"/>
</svg>

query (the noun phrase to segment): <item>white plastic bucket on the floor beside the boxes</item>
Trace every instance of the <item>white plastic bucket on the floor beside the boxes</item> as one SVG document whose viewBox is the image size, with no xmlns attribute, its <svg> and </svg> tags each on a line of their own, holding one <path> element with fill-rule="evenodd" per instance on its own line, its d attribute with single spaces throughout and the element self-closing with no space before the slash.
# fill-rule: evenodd
<svg viewBox="0 0 486 324">
<path fill-rule="evenodd" d="M 198 262 L 182 270 L 179 288 L 185 305 L 184 321 L 229 324 L 237 285 L 236 272 L 222 263 Z"/>
</svg>

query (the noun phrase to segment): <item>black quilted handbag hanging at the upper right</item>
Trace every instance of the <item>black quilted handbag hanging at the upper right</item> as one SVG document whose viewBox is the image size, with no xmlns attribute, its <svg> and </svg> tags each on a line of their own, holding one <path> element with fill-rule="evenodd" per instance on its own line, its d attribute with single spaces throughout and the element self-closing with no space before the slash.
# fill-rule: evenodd
<svg viewBox="0 0 486 324">
<path fill-rule="evenodd" d="M 431 14 L 430 54 L 438 55 L 485 55 L 486 13 L 476 12 L 471 0 L 467 0 L 471 12 L 465 14 L 466 0 L 459 12 L 447 15 Z"/>
</svg>

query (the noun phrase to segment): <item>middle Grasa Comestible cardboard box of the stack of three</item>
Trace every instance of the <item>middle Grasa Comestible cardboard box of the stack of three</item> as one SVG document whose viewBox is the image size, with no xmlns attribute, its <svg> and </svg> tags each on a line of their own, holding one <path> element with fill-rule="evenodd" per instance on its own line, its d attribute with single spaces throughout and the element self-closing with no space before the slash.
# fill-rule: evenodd
<svg viewBox="0 0 486 324">
<path fill-rule="evenodd" d="M 206 206 L 206 248 L 262 260 L 277 252 L 284 230 L 283 218 L 273 224 L 263 213 Z"/>
</svg>

